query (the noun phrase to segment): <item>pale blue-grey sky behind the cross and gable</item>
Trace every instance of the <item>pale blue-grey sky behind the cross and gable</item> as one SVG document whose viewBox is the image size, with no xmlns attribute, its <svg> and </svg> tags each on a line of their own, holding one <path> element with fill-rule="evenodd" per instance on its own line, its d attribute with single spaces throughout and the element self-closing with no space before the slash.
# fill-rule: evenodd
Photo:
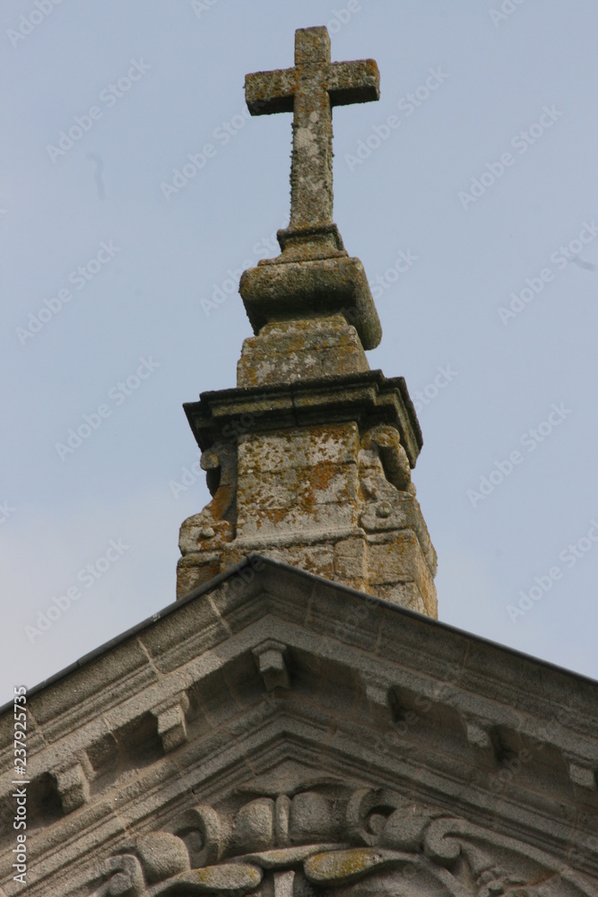
<svg viewBox="0 0 598 897">
<path fill-rule="evenodd" d="M 421 404 L 439 618 L 598 675 L 594 0 L 3 0 L 0 701 L 174 600 L 178 527 L 209 500 L 203 475 L 176 487 L 198 457 L 181 405 L 235 385 L 251 331 L 225 282 L 288 222 L 291 118 L 244 116 L 244 76 L 292 65 L 294 30 L 322 24 L 333 59 L 381 73 L 379 102 L 334 110 L 334 218 L 383 279 L 370 366 Z M 161 186 L 205 144 L 202 170 Z M 111 540 L 116 560 L 79 577 Z"/>
</svg>

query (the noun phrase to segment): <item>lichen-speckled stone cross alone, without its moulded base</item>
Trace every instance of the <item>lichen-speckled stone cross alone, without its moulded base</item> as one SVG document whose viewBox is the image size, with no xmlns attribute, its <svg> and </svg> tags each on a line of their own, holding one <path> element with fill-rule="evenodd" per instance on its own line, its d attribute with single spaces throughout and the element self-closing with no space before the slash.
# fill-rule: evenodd
<svg viewBox="0 0 598 897">
<path fill-rule="evenodd" d="M 334 227 L 332 108 L 377 100 L 379 83 L 374 59 L 330 61 L 324 27 L 295 31 L 294 68 L 247 74 L 251 115 L 293 113 L 290 229 L 285 233 L 324 233 Z"/>
</svg>

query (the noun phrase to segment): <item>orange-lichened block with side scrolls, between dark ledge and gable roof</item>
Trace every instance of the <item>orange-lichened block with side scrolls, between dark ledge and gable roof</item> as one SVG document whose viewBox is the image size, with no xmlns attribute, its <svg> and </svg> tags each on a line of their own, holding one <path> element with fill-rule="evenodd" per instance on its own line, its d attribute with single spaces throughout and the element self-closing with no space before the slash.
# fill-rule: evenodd
<svg viewBox="0 0 598 897">
<path fill-rule="evenodd" d="M 361 434 L 345 422 L 247 433 L 237 458 L 236 535 L 212 518 L 216 492 L 181 527 L 178 597 L 258 551 L 438 615 L 436 553 L 394 428 Z"/>
</svg>

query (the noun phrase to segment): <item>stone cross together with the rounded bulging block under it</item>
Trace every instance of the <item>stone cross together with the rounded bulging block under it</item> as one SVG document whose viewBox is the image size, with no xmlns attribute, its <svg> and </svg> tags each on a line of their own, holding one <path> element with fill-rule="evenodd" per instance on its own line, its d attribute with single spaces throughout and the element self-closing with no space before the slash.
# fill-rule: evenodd
<svg viewBox="0 0 598 897">
<path fill-rule="evenodd" d="M 252 115 L 293 113 L 290 225 L 277 234 L 282 252 L 247 268 L 238 285 L 256 335 L 274 322 L 342 315 L 355 327 L 360 348 L 380 342 L 368 278 L 333 222 L 332 145 L 333 106 L 377 100 L 379 80 L 373 59 L 331 62 L 325 28 L 295 31 L 293 68 L 246 75 Z"/>
</svg>

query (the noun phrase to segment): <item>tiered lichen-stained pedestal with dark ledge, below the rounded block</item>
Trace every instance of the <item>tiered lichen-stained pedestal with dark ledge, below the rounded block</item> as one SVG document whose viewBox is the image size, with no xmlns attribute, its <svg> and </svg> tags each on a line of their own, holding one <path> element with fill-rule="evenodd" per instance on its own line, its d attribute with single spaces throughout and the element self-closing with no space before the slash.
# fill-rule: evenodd
<svg viewBox="0 0 598 897">
<path fill-rule="evenodd" d="M 342 314 L 264 325 L 238 388 L 186 414 L 213 497 L 181 527 L 178 597 L 258 551 L 437 616 L 411 482 L 417 418 L 404 380 L 368 369 Z"/>
</svg>

